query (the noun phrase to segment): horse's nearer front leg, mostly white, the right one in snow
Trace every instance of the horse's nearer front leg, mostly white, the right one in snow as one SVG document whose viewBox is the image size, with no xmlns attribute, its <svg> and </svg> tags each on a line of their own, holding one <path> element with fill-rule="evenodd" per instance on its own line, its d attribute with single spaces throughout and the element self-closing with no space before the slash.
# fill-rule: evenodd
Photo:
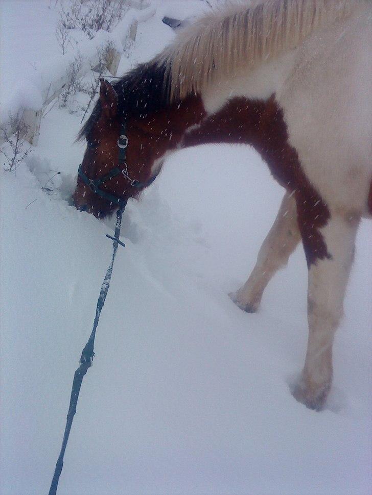
<svg viewBox="0 0 372 495">
<path fill-rule="evenodd" d="M 319 249 L 320 238 L 314 243 L 314 234 L 305 233 L 300 224 L 309 265 L 309 337 L 305 366 L 293 395 L 311 409 L 323 407 L 331 388 L 332 344 L 343 313 L 358 224 L 359 217 L 332 215 L 318 230 L 325 251 Z"/>
</svg>

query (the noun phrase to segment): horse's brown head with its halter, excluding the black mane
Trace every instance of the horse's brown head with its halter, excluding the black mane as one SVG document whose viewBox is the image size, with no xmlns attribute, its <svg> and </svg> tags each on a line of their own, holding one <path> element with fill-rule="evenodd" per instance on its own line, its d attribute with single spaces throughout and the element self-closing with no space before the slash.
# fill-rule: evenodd
<svg viewBox="0 0 372 495">
<path fill-rule="evenodd" d="M 160 152 L 154 145 L 156 130 L 149 131 L 148 120 L 119 115 L 117 92 L 104 79 L 94 113 L 80 134 L 87 147 L 73 201 L 78 209 L 103 218 L 152 182 Z"/>
</svg>

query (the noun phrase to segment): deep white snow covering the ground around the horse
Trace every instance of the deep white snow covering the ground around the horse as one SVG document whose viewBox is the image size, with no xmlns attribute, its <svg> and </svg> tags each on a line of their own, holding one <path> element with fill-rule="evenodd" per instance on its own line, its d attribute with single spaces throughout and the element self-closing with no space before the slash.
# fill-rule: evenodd
<svg viewBox="0 0 372 495">
<path fill-rule="evenodd" d="M 119 73 L 173 37 L 161 23 L 168 6 L 172 16 L 176 4 L 184 15 L 198 8 L 156 4 Z M 27 76 L 26 61 L 34 70 L 57 53 L 48 6 L 1 4 L 5 103 L 10 82 Z M 81 117 L 55 106 L 27 163 L 14 175 L 2 160 L 3 495 L 48 492 L 111 257 L 105 234 L 114 220 L 65 201 L 83 154 L 73 144 Z M 52 170 L 61 174 L 49 195 L 41 188 Z M 303 249 L 272 280 L 257 314 L 227 297 L 252 269 L 282 194 L 246 147 L 201 146 L 171 157 L 142 200 L 128 204 L 126 248 L 115 260 L 59 494 L 371 492 L 370 221 L 359 230 L 321 413 L 289 391 L 307 341 Z"/>
</svg>

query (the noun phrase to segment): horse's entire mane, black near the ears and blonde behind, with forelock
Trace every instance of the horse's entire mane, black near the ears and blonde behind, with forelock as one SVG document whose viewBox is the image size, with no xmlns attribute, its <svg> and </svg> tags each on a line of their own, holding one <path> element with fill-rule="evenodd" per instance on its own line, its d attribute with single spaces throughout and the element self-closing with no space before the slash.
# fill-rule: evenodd
<svg viewBox="0 0 372 495">
<path fill-rule="evenodd" d="M 145 117 L 217 76 L 234 73 L 295 48 L 318 27 L 350 15 L 364 0 L 252 0 L 234 2 L 197 20 L 152 61 L 113 84 L 118 118 Z M 77 137 L 87 137 L 101 113 L 96 103 Z"/>
</svg>

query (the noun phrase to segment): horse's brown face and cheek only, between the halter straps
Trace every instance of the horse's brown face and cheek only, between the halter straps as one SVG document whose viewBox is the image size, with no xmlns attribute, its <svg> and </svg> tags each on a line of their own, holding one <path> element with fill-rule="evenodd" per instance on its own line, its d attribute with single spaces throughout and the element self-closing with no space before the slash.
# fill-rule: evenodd
<svg viewBox="0 0 372 495">
<path fill-rule="evenodd" d="M 101 115 L 87 136 L 86 148 L 82 171 L 88 179 L 96 180 L 105 176 L 119 165 L 118 139 L 122 122 L 117 115 L 117 94 L 112 86 L 103 79 L 100 88 Z M 126 163 L 128 175 L 131 179 L 146 183 L 151 175 L 151 165 L 156 158 L 152 136 L 135 124 L 135 121 L 127 122 L 126 136 L 128 146 L 126 148 Z M 138 195 L 139 189 L 133 187 L 128 179 L 119 174 L 100 185 L 100 189 L 120 199 L 128 199 Z M 79 176 L 73 194 L 76 208 L 94 214 L 97 218 L 103 218 L 107 214 L 117 210 L 118 205 L 94 193 Z"/>
</svg>

